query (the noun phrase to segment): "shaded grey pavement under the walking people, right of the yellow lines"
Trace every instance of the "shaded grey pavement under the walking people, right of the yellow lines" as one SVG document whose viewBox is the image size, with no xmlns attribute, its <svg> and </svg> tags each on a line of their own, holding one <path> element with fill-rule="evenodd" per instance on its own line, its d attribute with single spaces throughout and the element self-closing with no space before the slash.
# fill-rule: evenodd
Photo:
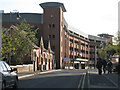
<svg viewBox="0 0 120 90">
<path fill-rule="evenodd" d="M 88 87 L 89 88 L 104 88 L 104 89 L 118 89 L 120 75 L 117 73 L 98 75 L 97 69 L 88 70 Z"/>
</svg>

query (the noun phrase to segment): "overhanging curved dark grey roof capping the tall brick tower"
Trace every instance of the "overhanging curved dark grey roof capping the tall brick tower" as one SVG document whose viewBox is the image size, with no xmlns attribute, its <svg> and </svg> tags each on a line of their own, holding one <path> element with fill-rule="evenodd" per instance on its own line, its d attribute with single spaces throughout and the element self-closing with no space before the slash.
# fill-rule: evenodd
<svg viewBox="0 0 120 90">
<path fill-rule="evenodd" d="M 46 7 L 61 7 L 63 12 L 66 12 L 66 9 L 64 7 L 63 3 L 60 2 L 45 2 L 45 3 L 41 3 L 39 4 L 42 8 L 46 8 Z"/>
</svg>

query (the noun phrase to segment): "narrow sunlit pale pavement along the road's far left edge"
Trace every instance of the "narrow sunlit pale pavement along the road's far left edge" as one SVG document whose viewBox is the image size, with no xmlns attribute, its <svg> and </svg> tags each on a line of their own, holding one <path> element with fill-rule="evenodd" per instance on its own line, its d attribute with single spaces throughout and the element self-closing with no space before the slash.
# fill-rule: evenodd
<svg viewBox="0 0 120 90">
<path fill-rule="evenodd" d="M 61 71 L 61 69 L 53 69 L 53 70 L 48 70 L 48 71 L 35 71 L 35 72 L 21 72 L 18 73 L 18 79 L 34 76 L 37 74 L 45 74 L 45 73 L 51 73 L 51 72 L 56 72 L 56 71 Z"/>
</svg>

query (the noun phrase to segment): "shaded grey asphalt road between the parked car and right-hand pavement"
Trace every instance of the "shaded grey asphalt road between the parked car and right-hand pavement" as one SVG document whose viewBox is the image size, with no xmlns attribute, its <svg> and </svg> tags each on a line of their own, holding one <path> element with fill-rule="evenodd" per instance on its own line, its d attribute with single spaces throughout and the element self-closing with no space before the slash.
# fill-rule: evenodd
<svg viewBox="0 0 120 90">
<path fill-rule="evenodd" d="M 19 88 L 87 88 L 86 70 L 62 70 L 19 80 Z"/>
</svg>

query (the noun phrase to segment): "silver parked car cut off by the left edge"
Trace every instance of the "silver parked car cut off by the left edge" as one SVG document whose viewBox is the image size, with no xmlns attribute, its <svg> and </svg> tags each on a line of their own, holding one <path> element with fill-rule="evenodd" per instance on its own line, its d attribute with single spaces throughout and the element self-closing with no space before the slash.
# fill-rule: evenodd
<svg viewBox="0 0 120 90">
<path fill-rule="evenodd" d="M 2 74 L 2 89 L 5 88 L 17 88 L 18 87 L 18 75 L 14 72 L 15 69 L 11 69 L 5 61 L 0 61 L 0 73 Z"/>
</svg>

